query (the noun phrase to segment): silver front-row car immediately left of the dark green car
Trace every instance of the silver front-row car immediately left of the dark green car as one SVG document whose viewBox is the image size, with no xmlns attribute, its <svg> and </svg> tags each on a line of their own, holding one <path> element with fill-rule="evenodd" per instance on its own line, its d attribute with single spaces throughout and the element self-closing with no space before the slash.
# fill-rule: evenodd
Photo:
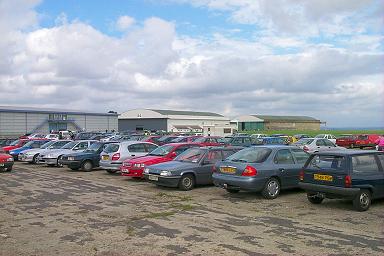
<svg viewBox="0 0 384 256">
<path fill-rule="evenodd" d="M 96 140 L 77 140 L 69 142 L 60 149 L 51 149 L 41 153 L 38 156 L 37 163 L 60 167 L 61 164 L 59 163 L 59 160 L 62 156 L 73 152 L 82 152 L 95 142 Z"/>
</svg>

